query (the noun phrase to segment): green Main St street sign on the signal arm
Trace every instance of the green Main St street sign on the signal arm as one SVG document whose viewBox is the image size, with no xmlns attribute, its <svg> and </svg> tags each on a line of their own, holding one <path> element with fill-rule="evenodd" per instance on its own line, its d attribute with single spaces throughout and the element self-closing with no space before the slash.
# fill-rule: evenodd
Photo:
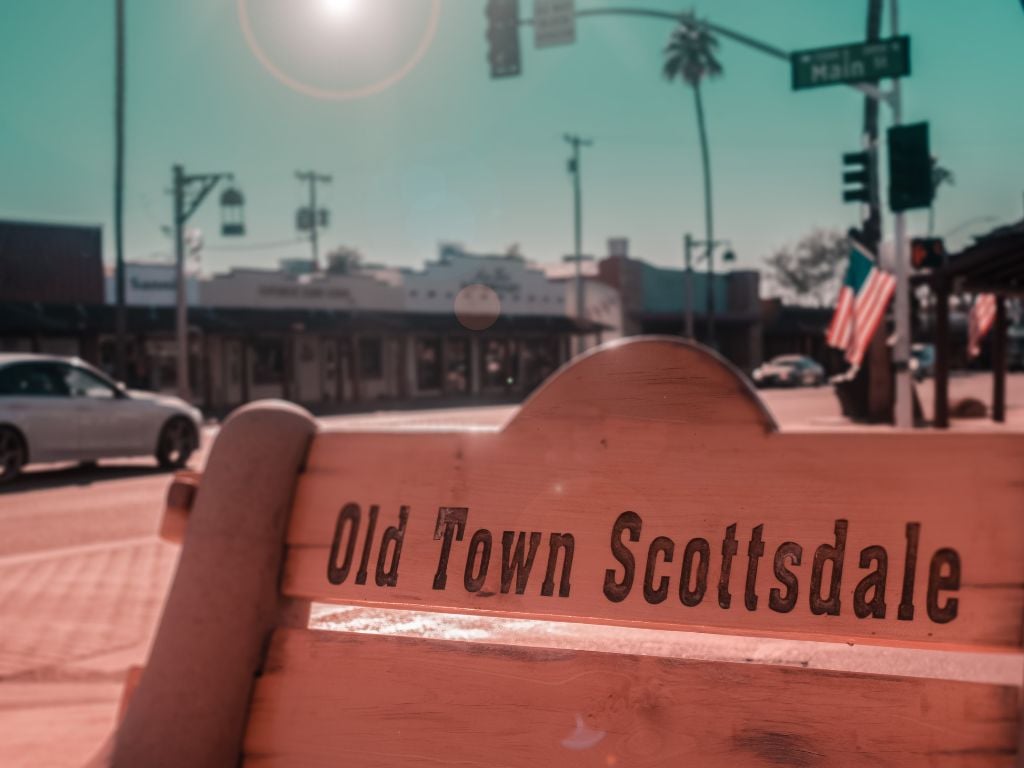
<svg viewBox="0 0 1024 768">
<path fill-rule="evenodd" d="M 900 35 L 873 43 L 801 50 L 791 53 L 790 61 L 795 91 L 901 78 L 910 74 L 910 38 Z"/>
</svg>

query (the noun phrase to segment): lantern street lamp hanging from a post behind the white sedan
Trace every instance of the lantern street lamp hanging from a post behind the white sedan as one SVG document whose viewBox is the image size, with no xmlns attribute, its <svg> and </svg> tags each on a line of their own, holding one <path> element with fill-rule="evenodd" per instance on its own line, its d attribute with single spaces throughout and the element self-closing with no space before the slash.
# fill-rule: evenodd
<svg viewBox="0 0 1024 768">
<path fill-rule="evenodd" d="M 174 272 L 177 293 L 175 311 L 175 337 L 177 339 L 177 389 L 178 396 L 189 401 L 188 386 L 188 309 L 185 299 L 185 222 L 196 213 L 213 187 L 222 180 L 233 181 L 230 173 L 185 173 L 184 166 L 171 169 L 171 190 L 174 197 Z M 242 218 L 245 199 L 231 187 L 220 197 L 221 233 L 244 234 Z"/>
</svg>

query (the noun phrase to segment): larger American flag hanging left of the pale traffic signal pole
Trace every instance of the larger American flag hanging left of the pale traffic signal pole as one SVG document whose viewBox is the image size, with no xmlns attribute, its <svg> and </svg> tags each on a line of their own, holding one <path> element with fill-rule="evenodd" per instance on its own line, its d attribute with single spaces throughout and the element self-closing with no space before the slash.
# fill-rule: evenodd
<svg viewBox="0 0 1024 768">
<path fill-rule="evenodd" d="M 896 291 L 896 279 L 879 269 L 874 257 L 862 245 L 855 241 L 850 244 L 850 264 L 825 342 L 845 350 L 847 361 L 856 368 L 863 361 L 867 345 L 886 314 Z"/>
</svg>

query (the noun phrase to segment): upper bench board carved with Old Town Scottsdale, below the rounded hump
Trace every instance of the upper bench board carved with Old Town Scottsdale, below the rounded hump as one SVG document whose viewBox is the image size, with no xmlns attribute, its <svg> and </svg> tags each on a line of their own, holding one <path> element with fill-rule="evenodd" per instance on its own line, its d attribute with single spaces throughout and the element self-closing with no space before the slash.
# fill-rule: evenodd
<svg viewBox="0 0 1024 768">
<path fill-rule="evenodd" d="M 744 633 L 797 633 L 837 640 L 910 641 L 1019 648 L 1024 617 L 1024 438 L 977 434 L 778 434 L 732 428 L 693 437 L 678 424 L 595 418 L 557 422 L 544 432 L 515 429 L 494 434 L 325 433 L 315 438 L 300 478 L 288 532 L 283 589 L 302 598 L 418 609 L 559 616 L 621 624 L 655 624 Z M 941 468 L 941 472 L 938 471 Z M 331 544 L 339 513 L 359 509 L 351 568 L 343 583 L 329 581 Z M 374 539 L 365 553 L 370 511 L 379 508 Z M 378 586 L 375 566 L 381 538 L 408 510 L 397 581 Z M 462 541 L 453 540 L 446 582 L 434 588 L 443 539 L 435 539 L 438 508 L 468 510 Z M 632 588 L 621 602 L 605 593 L 606 571 L 622 579 L 613 556 L 613 525 L 624 511 L 642 522 L 638 541 L 620 539 L 635 558 Z M 820 545 L 837 543 L 838 520 L 847 521 L 839 615 L 815 614 L 809 596 L 813 559 Z M 718 585 L 726 528 L 735 524 L 730 605 L 720 606 Z M 912 618 L 902 617 L 908 524 L 918 527 Z M 754 594 L 745 601 L 749 546 L 763 526 L 764 553 Z M 490 535 L 488 571 L 475 592 L 465 570 L 474 531 Z M 540 542 L 523 594 L 502 589 L 503 531 L 530 531 Z M 336 564 L 344 560 L 345 528 Z M 556 588 L 542 595 L 552 554 L 550 536 L 571 534 L 570 591 L 560 597 L 564 552 L 555 552 Z M 668 579 L 666 597 L 644 594 L 645 564 L 656 537 L 671 540 L 672 562 L 658 553 L 651 586 Z M 707 589 L 697 605 L 684 605 L 679 587 L 685 548 L 708 542 Z M 513 540 L 510 553 L 514 555 Z M 785 564 L 798 578 L 792 610 L 771 607 L 772 589 L 784 596 L 773 558 L 783 542 L 802 547 L 802 561 Z M 484 544 L 477 550 L 478 572 Z M 860 567 L 861 551 L 887 555 L 885 616 L 858 617 L 855 589 L 877 568 Z M 957 600 L 953 621 L 939 623 L 928 609 L 930 564 L 952 550 L 961 588 L 943 591 L 938 604 Z M 365 584 L 356 577 L 367 557 Z M 691 588 L 699 574 L 691 561 Z M 390 560 L 385 558 L 388 564 Z M 831 564 L 821 568 L 818 592 L 827 596 Z M 940 573 L 945 573 L 943 570 Z M 472 585 L 471 585 L 472 586 Z M 873 590 L 864 592 L 866 601 Z M 656 600 L 657 596 L 653 595 Z M 784 607 L 784 606 L 783 606 Z"/>
</svg>

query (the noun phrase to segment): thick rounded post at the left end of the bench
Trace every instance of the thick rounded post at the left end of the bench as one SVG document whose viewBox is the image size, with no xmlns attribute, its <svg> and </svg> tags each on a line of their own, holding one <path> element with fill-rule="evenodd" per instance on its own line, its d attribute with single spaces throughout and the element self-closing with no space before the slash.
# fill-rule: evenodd
<svg viewBox="0 0 1024 768">
<path fill-rule="evenodd" d="M 308 413 L 284 402 L 240 409 L 224 423 L 112 768 L 238 765 L 281 608 L 295 478 L 315 431 Z"/>
</svg>

